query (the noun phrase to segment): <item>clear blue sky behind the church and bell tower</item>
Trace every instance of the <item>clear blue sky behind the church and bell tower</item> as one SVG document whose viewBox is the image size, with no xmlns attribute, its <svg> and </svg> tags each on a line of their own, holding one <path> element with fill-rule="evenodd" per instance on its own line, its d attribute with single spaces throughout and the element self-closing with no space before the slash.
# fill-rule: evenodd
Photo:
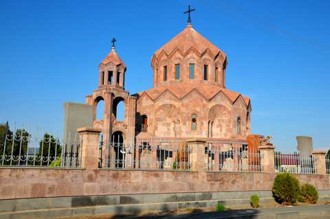
<svg viewBox="0 0 330 219">
<path fill-rule="evenodd" d="M 126 89 L 152 87 L 151 56 L 192 26 L 228 55 L 227 88 L 251 97 L 252 132 L 280 150 L 296 135 L 330 148 L 330 1 L 0 2 L 0 122 L 63 129 L 63 103 L 85 102 L 118 39 Z"/>
</svg>

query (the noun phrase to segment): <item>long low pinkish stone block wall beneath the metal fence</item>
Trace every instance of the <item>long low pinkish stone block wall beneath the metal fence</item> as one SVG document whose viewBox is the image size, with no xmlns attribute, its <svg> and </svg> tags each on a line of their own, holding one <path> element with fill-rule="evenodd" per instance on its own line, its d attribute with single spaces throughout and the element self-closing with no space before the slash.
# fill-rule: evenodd
<svg viewBox="0 0 330 219">
<path fill-rule="evenodd" d="M 275 176 L 255 172 L 0 168 L 0 199 L 271 191 Z M 330 189 L 329 175 L 295 176 L 300 183 Z"/>
</svg>

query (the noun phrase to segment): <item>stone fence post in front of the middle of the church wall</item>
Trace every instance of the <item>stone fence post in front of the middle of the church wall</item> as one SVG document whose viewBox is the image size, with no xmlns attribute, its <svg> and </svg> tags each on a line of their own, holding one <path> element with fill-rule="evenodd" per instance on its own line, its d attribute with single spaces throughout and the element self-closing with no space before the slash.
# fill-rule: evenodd
<svg viewBox="0 0 330 219">
<path fill-rule="evenodd" d="M 202 139 L 190 139 L 187 141 L 188 147 L 192 149 L 191 158 L 192 170 L 205 171 L 205 143 Z"/>
</svg>

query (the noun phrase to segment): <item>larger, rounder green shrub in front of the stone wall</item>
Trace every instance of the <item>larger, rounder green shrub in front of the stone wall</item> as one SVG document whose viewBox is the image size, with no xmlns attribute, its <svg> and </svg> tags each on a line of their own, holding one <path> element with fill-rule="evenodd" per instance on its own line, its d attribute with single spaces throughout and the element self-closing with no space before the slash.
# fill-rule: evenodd
<svg viewBox="0 0 330 219">
<path fill-rule="evenodd" d="M 272 192 L 278 203 L 283 205 L 296 203 L 299 191 L 299 181 L 294 175 L 286 172 L 275 177 Z"/>
</svg>

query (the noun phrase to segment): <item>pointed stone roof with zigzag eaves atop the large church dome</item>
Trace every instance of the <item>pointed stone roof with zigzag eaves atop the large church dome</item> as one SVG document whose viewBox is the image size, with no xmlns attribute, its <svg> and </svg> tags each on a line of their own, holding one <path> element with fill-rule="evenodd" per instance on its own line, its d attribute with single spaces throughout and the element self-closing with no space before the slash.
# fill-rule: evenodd
<svg viewBox="0 0 330 219">
<path fill-rule="evenodd" d="M 225 53 L 213 45 L 205 37 L 201 36 L 201 34 L 192 28 L 190 24 L 188 24 L 182 32 L 177 34 L 177 36 L 158 49 L 154 56 L 158 57 L 162 51 L 169 55 L 174 49 L 179 49 L 183 54 L 185 54 L 191 47 L 197 49 L 199 54 L 203 54 L 206 49 L 210 49 L 214 57 L 219 54 L 223 56 L 223 60 L 225 60 Z"/>
</svg>

